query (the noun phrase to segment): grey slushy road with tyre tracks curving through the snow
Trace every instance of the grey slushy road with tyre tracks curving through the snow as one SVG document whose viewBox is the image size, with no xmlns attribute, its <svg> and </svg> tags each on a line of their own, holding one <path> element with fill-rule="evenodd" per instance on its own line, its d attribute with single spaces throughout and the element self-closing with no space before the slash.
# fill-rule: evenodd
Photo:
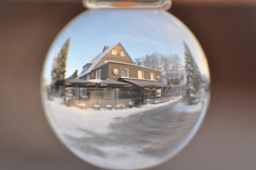
<svg viewBox="0 0 256 170">
<path fill-rule="evenodd" d="M 179 104 L 173 103 L 128 117 L 116 117 L 109 124 L 110 131 L 107 134 L 79 129 L 92 137 L 66 135 L 65 139 L 68 145 L 82 151 L 84 155 L 105 160 L 129 159 L 134 154 L 164 159 L 186 139 L 200 114 L 199 111 L 177 111 Z"/>
</svg>

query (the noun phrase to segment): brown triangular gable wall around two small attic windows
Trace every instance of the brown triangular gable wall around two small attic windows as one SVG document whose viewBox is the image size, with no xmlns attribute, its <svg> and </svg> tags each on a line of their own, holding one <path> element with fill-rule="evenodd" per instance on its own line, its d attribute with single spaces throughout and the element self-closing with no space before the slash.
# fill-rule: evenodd
<svg viewBox="0 0 256 170">
<path fill-rule="evenodd" d="M 112 55 L 112 50 L 110 50 L 105 57 L 95 66 L 98 67 L 101 64 L 105 63 L 106 61 L 117 61 L 117 62 L 124 62 L 124 63 L 130 63 L 133 64 L 132 59 L 130 58 L 129 54 L 124 50 L 123 46 L 121 44 L 117 44 L 113 50 L 117 51 L 117 55 Z M 120 52 L 124 51 L 125 56 L 121 56 Z"/>
</svg>

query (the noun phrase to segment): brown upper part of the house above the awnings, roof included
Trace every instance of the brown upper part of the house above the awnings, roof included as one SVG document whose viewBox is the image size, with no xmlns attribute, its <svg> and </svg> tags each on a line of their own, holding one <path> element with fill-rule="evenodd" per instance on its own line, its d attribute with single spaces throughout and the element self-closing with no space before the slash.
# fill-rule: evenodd
<svg viewBox="0 0 256 170">
<path fill-rule="evenodd" d="M 97 63 L 92 64 L 92 62 Z M 159 70 L 134 64 L 130 55 L 120 43 L 111 48 L 105 46 L 102 54 L 90 63 L 85 64 L 81 76 L 78 76 L 78 78 L 86 80 L 118 80 L 122 77 L 162 82 Z"/>
</svg>

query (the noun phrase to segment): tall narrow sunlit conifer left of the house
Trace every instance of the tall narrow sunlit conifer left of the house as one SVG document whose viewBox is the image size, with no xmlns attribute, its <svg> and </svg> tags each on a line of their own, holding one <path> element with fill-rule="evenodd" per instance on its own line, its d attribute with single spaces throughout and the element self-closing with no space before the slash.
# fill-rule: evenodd
<svg viewBox="0 0 256 170">
<path fill-rule="evenodd" d="M 55 57 L 52 67 L 52 87 L 53 92 L 58 92 L 65 85 L 66 61 L 68 56 L 70 38 L 61 47 L 57 57 Z"/>
</svg>

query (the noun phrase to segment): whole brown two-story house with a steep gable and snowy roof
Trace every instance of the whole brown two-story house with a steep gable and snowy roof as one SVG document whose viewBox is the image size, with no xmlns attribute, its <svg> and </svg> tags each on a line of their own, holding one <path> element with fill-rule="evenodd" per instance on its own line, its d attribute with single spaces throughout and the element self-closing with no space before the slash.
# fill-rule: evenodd
<svg viewBox="0 0 256 170">
<path fill-rule="evenodd" d="M 76 79 L 94 83 L 100 83 L 102 80 L 111 80 L 112 86 L 110 85 L 108 88 L 97 86 L 99 91 L 97 92 L 97 99 L 113 100 L 115 98 L 115 102 L 121 102 L 125 105 L 130 100 L 135 104 L 145 104 L 146 99 L 154 101 L 156 98 L 161 98 L 162 89 L 165 87 L 162 84 L 161 71 L 134 64 L 130 55 L 120 43 L 112 47 L 105 46 L 100 55 L 83 66 L 81 74 Z M 113 82 L 116 82 L 116 84 Z M 116 88 L 118 87 L 117 84 L 122 82 L 124 85 Z M 125 86 L 125 84 L 130 84 L 131 86 Z M 69 83 L 68 86 L 71 85 Z M 81 89 L 79 91 L 81 92 Z M 83 87 L 83 94 L 79 94 L 79 96 L 92 96 L 92 94 L 95 94 L 94 92 L 93 86 Z M 114 97 L 110 95 L 111 92 L 113 92 Z"/>
</svg>

